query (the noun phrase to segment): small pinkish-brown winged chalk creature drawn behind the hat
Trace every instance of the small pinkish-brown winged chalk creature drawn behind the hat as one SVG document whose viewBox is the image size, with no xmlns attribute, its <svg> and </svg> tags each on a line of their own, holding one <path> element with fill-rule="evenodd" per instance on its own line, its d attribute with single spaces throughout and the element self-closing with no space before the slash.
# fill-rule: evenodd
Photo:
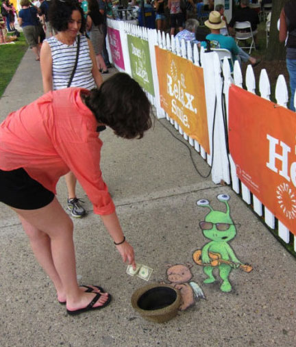
<svg viewBox="0 0 296 347">
<path fill-rule="evenodd" d="M 182 304 L 180 310 L 184 311 L 188 307 L 195 304 L 195 299 L 203 298 L 204 292 L 201 290 L 201 287 L 194 282 L 190 281 L 193 278 L 190 268 L 192 264 L 176 264 L 176 265 L 167 265 L 167 279 L 172 287 L 180 290 L 182 297 Z"/>
</svg>

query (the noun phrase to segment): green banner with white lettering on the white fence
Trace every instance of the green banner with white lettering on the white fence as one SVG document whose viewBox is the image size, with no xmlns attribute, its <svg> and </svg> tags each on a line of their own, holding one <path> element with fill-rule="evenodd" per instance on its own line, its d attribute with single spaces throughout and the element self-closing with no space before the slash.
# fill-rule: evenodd
<svg viewBox="0 0 296 347">
<path fill-rule="evenodd" d="M 149 44 L 142 38 L 127 35 L 132 77 L 154 97 Z"/>
</svg>

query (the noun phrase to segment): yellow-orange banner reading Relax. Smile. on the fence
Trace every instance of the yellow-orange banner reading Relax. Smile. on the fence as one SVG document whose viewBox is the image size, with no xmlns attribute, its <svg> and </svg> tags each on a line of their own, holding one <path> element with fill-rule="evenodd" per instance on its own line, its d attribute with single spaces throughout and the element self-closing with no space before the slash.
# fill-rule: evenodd
<svg viewBox="0 0 296 347">
<path fill-rule="evenodd" d="M 159 47 L 156 66 L 161 107 L 210 153 L 203 69 Z"/>
</svg>

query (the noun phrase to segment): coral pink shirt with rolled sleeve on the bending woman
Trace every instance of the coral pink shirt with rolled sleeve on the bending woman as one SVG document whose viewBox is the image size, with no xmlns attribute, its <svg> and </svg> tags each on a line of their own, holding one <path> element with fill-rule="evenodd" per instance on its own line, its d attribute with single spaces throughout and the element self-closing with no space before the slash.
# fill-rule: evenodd
<svg viewBox="0 0 296 347">
<path fill-rule="evenodd" d="M 103 142 L 81 90 L 88 93 L 83 88 L 51 91 L 9 114 L 0 125 L 0 168 L 24 168 L 55 194 L 58 179 L 71 170 L 95 214 L 112 214 L 114 203 L 100 170 Z"/>
</svg>

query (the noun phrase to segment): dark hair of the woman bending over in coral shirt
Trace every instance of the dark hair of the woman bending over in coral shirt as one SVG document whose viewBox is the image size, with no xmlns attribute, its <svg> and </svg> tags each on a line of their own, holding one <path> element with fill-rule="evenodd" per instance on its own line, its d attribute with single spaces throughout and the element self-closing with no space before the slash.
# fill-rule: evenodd
<svg viewBox="0 0 296 347">
<path fill-rule="evenodd" d="M 145 92 L 126 73 L 116 73 L 84 96 L 97 121 L 108 125 L 121 138 L 143 138 L 151 128 L 151 104 Z"/>
</svg>

